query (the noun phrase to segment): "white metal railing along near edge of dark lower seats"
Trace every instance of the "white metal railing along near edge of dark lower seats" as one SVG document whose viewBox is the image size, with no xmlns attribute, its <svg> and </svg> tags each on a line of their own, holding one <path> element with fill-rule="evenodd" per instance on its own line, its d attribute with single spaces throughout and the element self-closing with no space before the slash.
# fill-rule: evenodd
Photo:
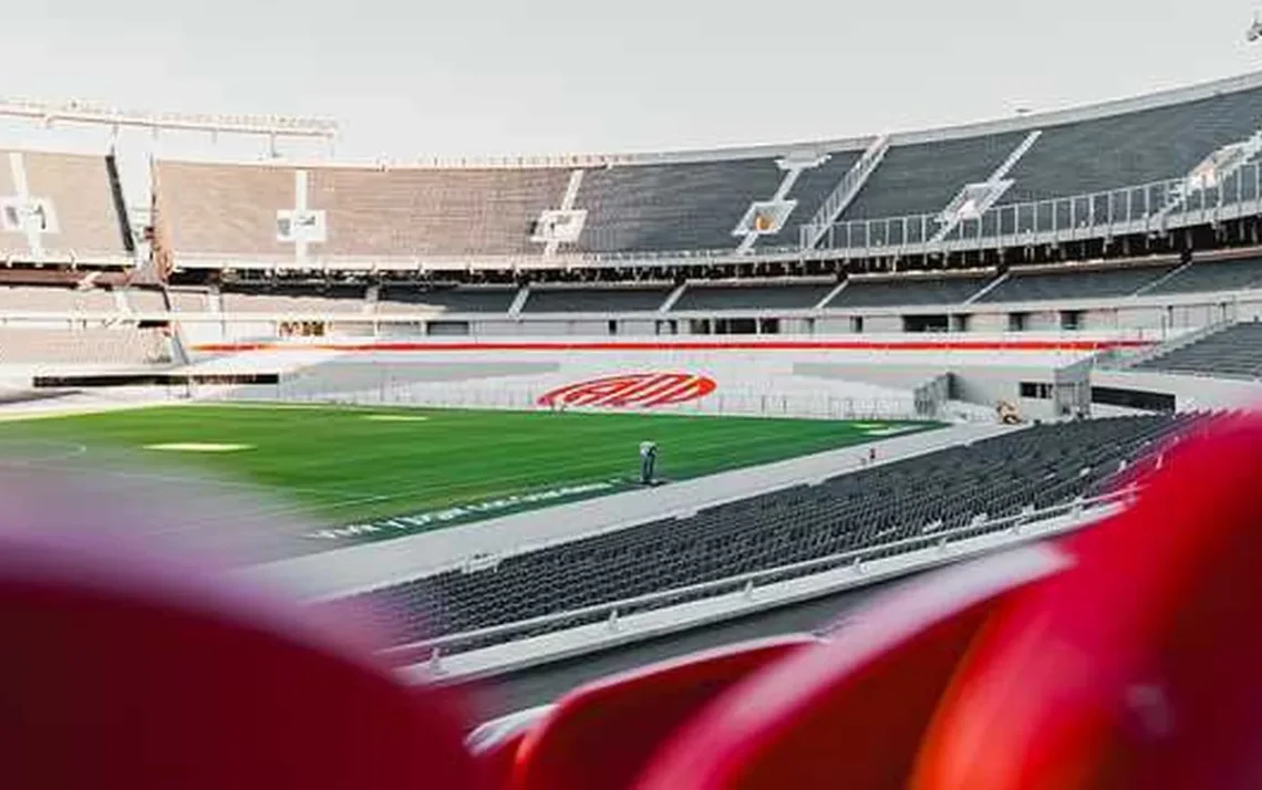
<svg viewBox="0 0 1262 790">
<path fill-rule="evenodd" d="M 568 610 L 564 612 L 554 612 L 550 615 L 540 615 L 538 617 L 530 617 L 528 620 L 520 620 L 516 622 L 502 623 L 497 626 L 487 626 L 485 628 L 476 628 L 472 631 L 463 631 L 461 634 L 448 634 L 444 636 L 438 636 L 434 639 L 420 640 L 415 642 L 409 642 L 406 645 L 398 645 L 389 647 L 382 651 L 384 656 L 392 656 L 400 654 L 416 654 L 418 656 L 424 656 L 427 651 L 442 651 L 443 649 L 451 647 L 453 645 L 461 645 L 464 642 L 482 641 L 482 640 L 498 640 L 500 637 L 509 637 L 526 631 L 534 631 L 545 626 L 554 626 L 560 623 L 567 623 L 570 621 L 589 621 L 598 622 L 599 620 L 608 618 L 610 621 L 616 621 L 620 613 L 625 613 L 628 610 L 634 612 L 642 612 L 645 610 L 663 608 L 666 604 L 681 602 L 680 599 L 697 599 L 717 597 L 724 592 L 734 592 L 737 589 L 745 589 L 748 594 L 757 588 L 761 583 L 784 581 L 781 577 L 799 578 L 803 575 L 810 575 L 813 573 L 822 573 L 825 570 L 832 570 L 843 565 L 854 567 L 857 572 L 862 572 L 862 563 L 864 559 L 877 559 L 872 555 L 876 554 L 888 554 L 891 550 L 904 549 L 904 551 L 896 553 L 910 553 L 916 549 L 929 549 L 934 546 L 944 548 L 957 540 L 964 540 L 968 538 L 976 538 L 987 533 L 996 533 L 1000 529 L 1008 526 L 1010 529 L 1018 531 L 1023 524 L 1031 521 L 1044 521 L 1047 519 L 1054 519 L 1056 516 L 1074 515 L 1074 514 L 1088 514 L 1099 516 L 1108 515 L 1108 507 L 1118 505 L 1119 502 L 1126 502 L 1133 497 L 1133 488 L 1124 488 L 1122 491 L 1116 491 L 1103 496 L 1097 496 L 1085 500 L 1075 500 L 1071 502 L 1063 502 L 1060 505 L 1054 505 L 1051 507 L 1045 507 L 1037 511 L 1027 511 L 1017 514 L 1015 516 L 1005 516 L 1002 519 L 986 520 L 981 522 L 972 522 L 964 526 L 954 528 L 950 530 L 941 530 L 929 534 L 916 535 L 914 538 L 905 538 L 902 540 L 895 540 L 890 543 L 876 544 L 871 546 L 864 546 L 862 549 L 853 549 L 849 551 L 843 551 L 840 554 L 830 554 L 828 557 L 819 557 L 815 559 L 809 559 L 799 563 L 793 563 L 789 565 L 779 565 L 776 568 L 766 568 L 762 570 L 751 570 L 748 573 L 742 573 L 733 577 L 726 577 L 722 579 L 714 579 L 711 582 L 700 582 L 697 584 L 689 584 L 687 587 L 676 587 L 674 589 L 659 591 L 655 593 L 647 593 L 644 596 L 636 596 L 632 598 L 623 598 L 620 601 L 611 601 L 607 603 L 597 603 L 593 606 L 587 606 L 577 610 Z M 954 540 L 953 540 L 954 539 Z M 511 640 L 501 640 L 511 641 Z"/>
</svg>

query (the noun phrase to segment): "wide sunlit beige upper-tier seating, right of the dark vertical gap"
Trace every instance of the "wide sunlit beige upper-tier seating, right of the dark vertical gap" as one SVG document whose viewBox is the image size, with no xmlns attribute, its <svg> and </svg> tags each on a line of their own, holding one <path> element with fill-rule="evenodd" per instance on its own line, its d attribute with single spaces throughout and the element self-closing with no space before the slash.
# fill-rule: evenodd
<svg viewBox="0 0 1262 790">
<path fill-rule="evenodd" d="M 158 223 L 182 255 L 293 260 L 276 212 L 295 206 L 293 167 L 158 162 Z M 308 168 L 307 206 L 326 212 L 316 260 L 520 255 L 530 227 L 560 206 L 569 170 L 543 168 Z M 734 220 L 733 220 L 734 223 Z"/>
</svg>

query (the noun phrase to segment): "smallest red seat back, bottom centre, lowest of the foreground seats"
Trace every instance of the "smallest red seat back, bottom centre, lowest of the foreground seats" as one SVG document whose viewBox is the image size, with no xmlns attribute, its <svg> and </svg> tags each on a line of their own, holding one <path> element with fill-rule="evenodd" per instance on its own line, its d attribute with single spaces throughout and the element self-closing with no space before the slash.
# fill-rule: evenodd
<svg viewBox="0 0 1262 790">
<path fill-rule="evenodd" d="M 574 689 L 525 737 L 511 786 L 631 787 L 652 753 L 711 700 L 760 669 L 818 645 L 805 635 L 742 642 Z"/>
</svg>

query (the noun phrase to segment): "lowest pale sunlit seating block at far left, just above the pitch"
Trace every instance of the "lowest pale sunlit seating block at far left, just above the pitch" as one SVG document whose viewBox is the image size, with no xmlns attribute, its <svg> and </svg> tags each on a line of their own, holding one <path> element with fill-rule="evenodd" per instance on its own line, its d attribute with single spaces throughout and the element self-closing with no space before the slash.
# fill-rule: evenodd
<svg viewBox="0 0 1262 790">
<path fill-rule="evenodd" d="M 0 327 L 0 365 L 151 365 L 169 362 L 158 329 L 15 329 Z"/>
</svg>

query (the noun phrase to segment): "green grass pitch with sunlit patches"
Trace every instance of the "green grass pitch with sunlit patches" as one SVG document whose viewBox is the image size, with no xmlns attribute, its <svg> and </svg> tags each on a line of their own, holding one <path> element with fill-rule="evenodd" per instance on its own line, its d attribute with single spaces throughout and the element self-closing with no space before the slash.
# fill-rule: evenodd
<svg viewBox="0 0 1262 790">
<path fill-rule="evenodd" d="M 38 442 L 82 445 L 83 462 L 91 461 L 95 449 L 102 457 L 116 451 L 139 454 L 159 472 L 178 461 L 177 471 L 207 468 L 276 491 L 310 507 L 312 520 L 322 528 L 448 509 L 442 519 L 409 522 L 415 529 L 395 525 L 416 531 L 630 488 L 639 476 L 637 447 L 644 439 L 660 448 L 659 475 L 678 481 L 870 442 L 882 430 L 933 427 L 652 414 L 188 405 L 0 423 L 0 456 L 5 447 Z M 160 483 L 159 472 L 155 482 Z M 530 501 L 530 495 L 579 486 L 583 488 Z M 498 507 L 478 510 L 488 502 Z M 473 507 L 469 512 L 451 510 L 468 506 Z"/>
</svg>

